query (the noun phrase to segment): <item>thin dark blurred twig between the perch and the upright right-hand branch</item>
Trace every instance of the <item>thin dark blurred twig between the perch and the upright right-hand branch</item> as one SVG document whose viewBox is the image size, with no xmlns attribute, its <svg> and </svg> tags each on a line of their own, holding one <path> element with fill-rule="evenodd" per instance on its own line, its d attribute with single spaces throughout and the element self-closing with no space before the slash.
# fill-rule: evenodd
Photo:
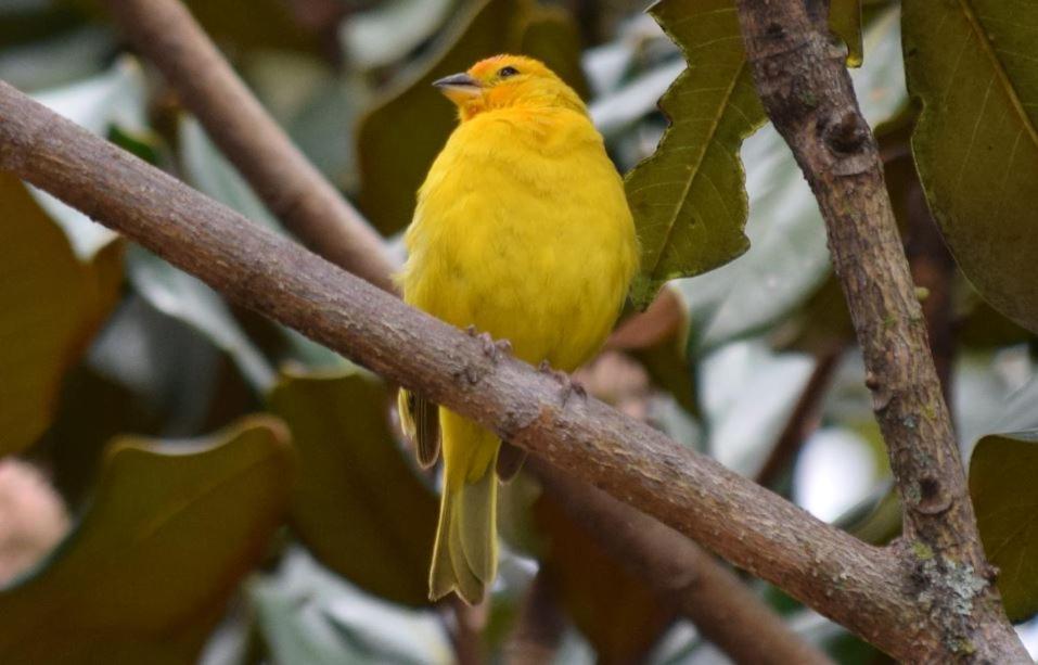
<svg viewBox="0 0 1038 665">
<path fill-rule="evenodd" d="M 840 358 L 843 356 L 843 345 L 834 344 L 832 348 L 819 351 L 815 358 L 815 370 L 807 380 L 807 385 L 793 407 L 785 426 L 779 433 L 768 459 L 757 472 L 757 483 L 771 487 L 796 457 L 800 446 L 818 427 L 818 410 L 825 397 L 833 373 L 836 371 Z"/>
</svg>

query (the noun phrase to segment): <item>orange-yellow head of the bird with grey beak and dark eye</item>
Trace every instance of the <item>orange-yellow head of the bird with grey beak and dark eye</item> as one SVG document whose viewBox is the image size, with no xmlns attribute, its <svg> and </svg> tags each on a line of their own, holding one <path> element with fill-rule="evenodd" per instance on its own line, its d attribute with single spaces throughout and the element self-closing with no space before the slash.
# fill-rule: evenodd
<svg viewBox="0 0 1038 665">
<path fill-rule="evenodd" d="M 495 55 L 467 72 L 433 82 L 457 106 L 462 120 L 508 107 L 587 110 L 580 97 L 543 63 L 523 55 Z"/>
</svg>

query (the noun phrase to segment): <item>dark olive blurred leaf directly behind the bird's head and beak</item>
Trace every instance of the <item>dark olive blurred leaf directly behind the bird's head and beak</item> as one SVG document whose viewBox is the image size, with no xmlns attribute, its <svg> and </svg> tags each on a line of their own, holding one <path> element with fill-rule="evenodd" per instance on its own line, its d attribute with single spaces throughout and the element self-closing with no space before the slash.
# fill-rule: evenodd
<svg viewBox="0 0 1038 665">
<path fill-rule="evenodd" d="M 476 61 L 526 48 L 560 74 L 578 73 L 568 59 L 576 49 L 548 34 L 560 35 L 565 14 L 546 17 L 535 0 L 480 0 L 447 27 L 430 61 L 405 75 L 393 91 L 360 122 L 357 138 L 360 205 L 383 233 L 411 221 L 414 193 L 457 123 L 453 105 L 432 86 L 435 79 L 462 72 Z M 534 34 L 527 38 L 528 30 Z M 569 79 L 578 88 L 579 80 Z"/>
</svg>

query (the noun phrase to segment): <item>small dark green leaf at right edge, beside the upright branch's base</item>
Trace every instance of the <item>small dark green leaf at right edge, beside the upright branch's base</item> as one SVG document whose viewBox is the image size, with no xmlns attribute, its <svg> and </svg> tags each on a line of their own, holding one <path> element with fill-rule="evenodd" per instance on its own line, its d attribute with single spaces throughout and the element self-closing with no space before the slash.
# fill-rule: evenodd
<svg viewBox="0 0 1038 665">
<path fill-rule="evenodd" d="M 973 449 L 970 495 L 1011 621 L 1038 613 L 1038 431 L 992 434 Z"/>
</svg>

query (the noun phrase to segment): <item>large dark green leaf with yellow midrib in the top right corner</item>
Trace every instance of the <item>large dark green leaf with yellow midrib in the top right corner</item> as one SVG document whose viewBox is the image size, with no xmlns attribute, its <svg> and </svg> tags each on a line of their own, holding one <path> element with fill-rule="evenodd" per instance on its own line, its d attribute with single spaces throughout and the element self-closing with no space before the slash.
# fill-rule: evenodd
<svg viewBox="0 0 1038 665">
<path fill-rule="evenodd" d="M 1038 331 L 1038 4 L 905 0 L 919 175 L 951 253 L 996 309 Z"/>
</svg>

